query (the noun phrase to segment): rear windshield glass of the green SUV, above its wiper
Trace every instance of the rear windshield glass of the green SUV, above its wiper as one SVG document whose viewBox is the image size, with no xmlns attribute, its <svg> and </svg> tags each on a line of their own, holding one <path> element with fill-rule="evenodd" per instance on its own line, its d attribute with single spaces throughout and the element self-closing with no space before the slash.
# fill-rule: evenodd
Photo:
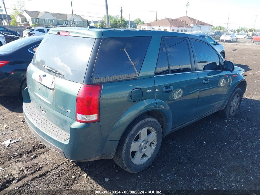
<svg viewBox="0 0 260 195">
<path fill-rule="evenodd" d="M 39 45 L 32 63 L 57 77 L 83 83 L 95 39 L 47 34 Z M 9 43 L 8 43 L 9 44 Z M 58 71 L 48 71 L 43 66 Z"/>
</svg>

